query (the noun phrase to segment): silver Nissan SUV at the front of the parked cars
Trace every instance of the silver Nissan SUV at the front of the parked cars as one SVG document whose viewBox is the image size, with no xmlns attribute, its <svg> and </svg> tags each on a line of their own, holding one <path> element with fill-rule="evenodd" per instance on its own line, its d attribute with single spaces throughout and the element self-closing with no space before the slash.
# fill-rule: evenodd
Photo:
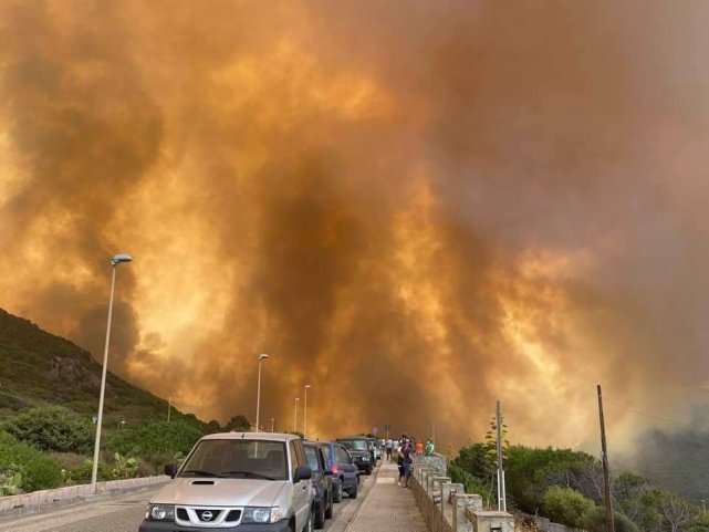
<svg viewBox="0 0 709 532">
<path fill-rule="evenodd" d="M 298 436 L 226 432 L 201 438 L 148 504 L 139 532 L 311 532 L 312 488 Z"/>
</svg>

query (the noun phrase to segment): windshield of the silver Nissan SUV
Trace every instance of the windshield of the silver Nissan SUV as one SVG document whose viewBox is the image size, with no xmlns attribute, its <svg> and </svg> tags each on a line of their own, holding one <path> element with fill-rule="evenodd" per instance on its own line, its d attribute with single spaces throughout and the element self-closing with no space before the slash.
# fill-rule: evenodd
<svg viewBox="0 0 709 532">
<path fill-rule="evenodd" d="M 282 441 L 207 439 L 199 442 L 179 477 L 288 480 Z"/>
</svg>

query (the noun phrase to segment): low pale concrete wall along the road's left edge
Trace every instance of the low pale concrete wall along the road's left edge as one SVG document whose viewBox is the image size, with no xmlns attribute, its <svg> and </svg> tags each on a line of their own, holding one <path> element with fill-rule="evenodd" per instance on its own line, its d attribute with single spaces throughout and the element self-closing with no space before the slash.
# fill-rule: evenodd
<svg viewBox="0 0 709 532">
<path fill-rule="evenodd" d="M 140 477 L 137 479 L 110 480 L 97 483 L 97 494 L 111 494 L 159 484 L 170 480 L 166 474 Z M 23 513 L 23 510 L 38 511 L 46 507 L 59 507 L 71 501 L 87 500 L 96 497 L 91 484 L 67 486 L 53 490 L 33 491 L 21 496 L 0 497 L 0 513 Z"/>
</svg>

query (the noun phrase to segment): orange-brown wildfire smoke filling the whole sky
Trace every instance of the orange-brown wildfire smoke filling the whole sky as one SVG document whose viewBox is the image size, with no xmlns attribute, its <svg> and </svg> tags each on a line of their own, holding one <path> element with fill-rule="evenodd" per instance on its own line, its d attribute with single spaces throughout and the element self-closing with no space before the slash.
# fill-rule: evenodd
<svg viewBox="0 0 709 532">
<path fill-rule="evenodd" d="M 4 1 L 0 306 L 202 419 L 597 449 L 706 404 L 709 6 Z M 302 403 L 301 403 L 302 404 Z M 302 410 L 300 413 L 302 423 Z M 607 419 L 627 447 L 647 424 Z M 300 427 L 302 428 L 302 426 Z"/>
</svg>

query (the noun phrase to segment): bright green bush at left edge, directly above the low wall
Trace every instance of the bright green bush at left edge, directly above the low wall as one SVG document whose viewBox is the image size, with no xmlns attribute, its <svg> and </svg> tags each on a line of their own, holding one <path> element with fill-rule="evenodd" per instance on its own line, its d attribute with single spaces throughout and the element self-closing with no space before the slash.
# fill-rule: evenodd
<svg viewBox="0 0 709 532">
<path fill-rule="evenodd" d="M 22 491 L 58 488 L 63 481 L 59 461 L 3 431 L 0 431 L 0 471 L 20 472 Z"/>
</svg>

